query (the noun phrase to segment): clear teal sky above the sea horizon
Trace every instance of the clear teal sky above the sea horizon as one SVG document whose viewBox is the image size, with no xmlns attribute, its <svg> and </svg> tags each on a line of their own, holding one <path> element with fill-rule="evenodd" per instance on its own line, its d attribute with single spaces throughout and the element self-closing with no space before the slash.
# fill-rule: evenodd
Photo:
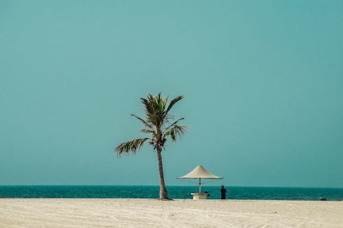
<svg viewBox="0 0 343 228">
<path fill-rule="evenodd" d="M 343 1 L 0 1 L 0 185 L 158 185 L 130 114 L 184 95 L 167 186 L 343 188 Z"/>
</svg>

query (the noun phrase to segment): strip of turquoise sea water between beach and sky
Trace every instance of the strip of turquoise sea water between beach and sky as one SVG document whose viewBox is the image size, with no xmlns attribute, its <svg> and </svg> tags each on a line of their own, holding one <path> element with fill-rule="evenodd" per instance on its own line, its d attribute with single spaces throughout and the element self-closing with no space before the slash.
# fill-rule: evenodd
<svg viewBox="0 0 343 228">
<path fill-rule="evenodd" d="M 158 198 L 158 186 L 0 186 L 0 197 L 16 198 Z M 342 201 L 343 188 L 228 187 L 228 199 Z M 167 186 L 169 197 L 191 199 L 197 186 Z M 220 199 L 220 186 L 203 186 L 209 199 Z"/>
</svg>

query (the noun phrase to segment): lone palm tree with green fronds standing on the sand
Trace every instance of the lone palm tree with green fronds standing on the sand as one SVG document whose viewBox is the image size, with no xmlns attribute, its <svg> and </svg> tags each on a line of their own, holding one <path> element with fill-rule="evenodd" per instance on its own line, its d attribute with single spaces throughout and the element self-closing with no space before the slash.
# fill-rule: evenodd
<svg viewBox="0 0 343 228">
<path fill-rule="evenodd" d="M 148 94 L 147 98 L 141 98 L 141 102 L 144 105 L 145 118 L 141 118 L 134 114 L 131 114 L 143 123 L 144 128 L 141 129 L 143 134 L 150 134 L 150 138 L 137 138 L 128 142 L 123 142 L 115 148 L 115 152 L 118 157 L 123 154 L 135 154 L 137 149 L 141 148 L 145 141 L 148 141 L 157 153 L 158 157 L 158 171 L 160 175 L 160 199 L 169 199 L 167 189 L 165 188 L 165 179 L 163 176 L 163 163 L 162 163 L 162 151 L 165 149 L 165 142 L 170 137 L 171 141 L 175 142 L 176 138 L 185 134 L 186 126 L 178 125 L 179 121 L 185 118 L 179 118 L 178 120 L 170 123 L 169 121 L 174 119 L 174 116 L 169 114 L 171 107 L 173 107 L 178 101 L 183 99 L 183 96 L 178 96 L 167 105 L 168 97 L 162 98 L 161 92 L 154 97 L 152 94 Z"/>
</svg>

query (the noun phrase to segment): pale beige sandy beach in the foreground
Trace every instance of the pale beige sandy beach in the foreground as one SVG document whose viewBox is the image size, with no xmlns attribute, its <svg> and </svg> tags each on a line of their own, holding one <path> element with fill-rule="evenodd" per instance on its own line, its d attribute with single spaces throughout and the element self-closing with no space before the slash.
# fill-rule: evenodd
<svg viewBox="0 0 343 228">
<path fill-rule="evenodd" d="M 0 199 L 0 227 L 343 227 L 343 202 Z"/>
</svg>

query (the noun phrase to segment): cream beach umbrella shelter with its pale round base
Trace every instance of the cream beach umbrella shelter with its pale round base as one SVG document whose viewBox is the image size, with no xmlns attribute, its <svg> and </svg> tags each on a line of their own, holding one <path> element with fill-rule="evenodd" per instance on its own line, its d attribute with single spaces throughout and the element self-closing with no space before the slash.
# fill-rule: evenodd
<svg viewBox="0 0 343 228">
<path fill-rule="evenodd" d="M 201 192 L 201 179 L 223 179 L 223 177 L 218 177 L 216 175 L 213 175 L 209 171 L 204 168 L 204 166 L 196 166 L 193 170 L 191 170 L 191 173 L 178 177 L 178 179 L 199 179 L 199 193 L 191 193 L 193 196 L 193 199 L 206 199 L 207 195 L 209 193 L 202 193 Z"/>
</svg>

